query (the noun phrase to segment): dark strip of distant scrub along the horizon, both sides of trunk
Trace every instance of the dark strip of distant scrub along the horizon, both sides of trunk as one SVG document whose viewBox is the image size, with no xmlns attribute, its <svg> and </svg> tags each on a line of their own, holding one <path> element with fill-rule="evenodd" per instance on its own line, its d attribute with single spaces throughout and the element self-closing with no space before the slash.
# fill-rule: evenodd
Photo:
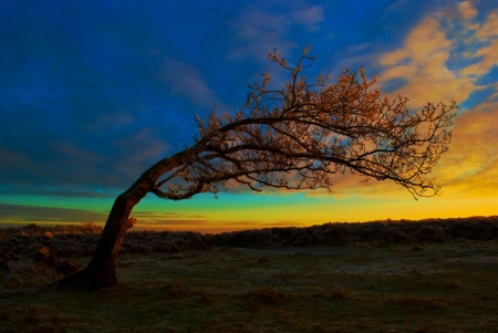
<svg viewBox="0 0 498 333">
<path fill-rule="evenodd" d="M 92 256 L 102 228 L 95 223 L 66 226 L 29 225 L 0 229 L 0 258 L 7 254 L 31 257 L 50 248 L 58 257 Z M 219 235 L 191 231 L 131 231 L 121 253 L 180 253 L 215 247 L 338 247 L 369 243 L 393 244 L 443 243 L 455 240 L 487 241 L 498 238 L 498 216 L 421 221 L 384 220 L 364 223 L 325 223 L 305 228 L 267 228 Z"/>
</svg>

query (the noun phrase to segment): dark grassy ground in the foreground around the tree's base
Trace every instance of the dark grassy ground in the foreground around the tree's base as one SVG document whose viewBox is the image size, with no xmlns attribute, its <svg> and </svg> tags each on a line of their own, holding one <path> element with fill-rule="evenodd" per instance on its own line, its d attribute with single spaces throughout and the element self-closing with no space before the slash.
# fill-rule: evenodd
<svg viewBox="0 0 498 333">
<path fill-rule="evenodd" d="M 10 264 L 1 332 L 498 332 L 496 240 L 127 254 L 98 292 Z"/>
</svg>

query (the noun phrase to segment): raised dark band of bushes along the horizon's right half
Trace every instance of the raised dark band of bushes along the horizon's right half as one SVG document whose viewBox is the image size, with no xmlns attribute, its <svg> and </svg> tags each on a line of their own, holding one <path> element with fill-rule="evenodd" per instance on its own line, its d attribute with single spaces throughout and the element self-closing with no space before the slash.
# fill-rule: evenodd
<svg viewBox="0 0 498 333">
<path fill-rule="evenodd" d="M 488 241 L 498 238 L 498 216 L 421 221 L 325 223 L 305 228 L 268 228 L 217 235 L 218 243 L 231 247 L 347 246 L 350 243 L 417 244 L 456 239 Z"/>
</svg>

